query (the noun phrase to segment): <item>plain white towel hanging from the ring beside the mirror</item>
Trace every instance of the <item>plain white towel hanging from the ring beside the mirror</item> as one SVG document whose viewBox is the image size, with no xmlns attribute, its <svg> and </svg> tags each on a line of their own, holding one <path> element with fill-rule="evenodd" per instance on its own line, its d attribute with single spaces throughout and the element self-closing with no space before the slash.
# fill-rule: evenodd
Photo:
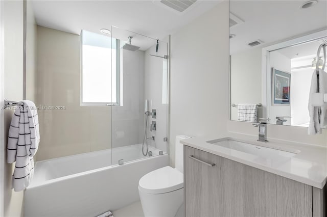
<svg viewBox="0 0 327 217">
<path fill-rule="evenodd" d="M 327 93 L 327 73 L 321 69 L 319 69 L 319 75 L 316 70 L 312 74 L 308 104 L 310 116 L 308 134 L 320 134 L 323 126 L 327 124 L 327 106 L 312 106 L 313 93 Z"/>
</svg>

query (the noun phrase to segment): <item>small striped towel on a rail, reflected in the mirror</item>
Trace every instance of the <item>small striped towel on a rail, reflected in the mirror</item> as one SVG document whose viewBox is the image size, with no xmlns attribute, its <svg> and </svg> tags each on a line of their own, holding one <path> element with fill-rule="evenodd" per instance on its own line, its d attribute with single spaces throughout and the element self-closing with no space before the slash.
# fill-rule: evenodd
<svg viewBox="0 0 327 217">
<path fill-rule="evenodd" d="M 238 104 L 238 120 L 258 122 L 258 105 L 253 103 Z"/>
</svg>

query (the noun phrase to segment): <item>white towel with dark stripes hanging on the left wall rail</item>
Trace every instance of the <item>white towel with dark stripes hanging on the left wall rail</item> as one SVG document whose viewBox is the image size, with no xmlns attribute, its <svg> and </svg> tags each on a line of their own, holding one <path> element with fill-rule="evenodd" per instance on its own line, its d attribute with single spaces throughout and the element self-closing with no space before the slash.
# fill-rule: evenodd
<svg viewBox="0 0 327 217">
<path fill-rule="evenodd" d="M 34 173 L 34 160 L 40 141 L 38 116 L 32 101 L 21 101 L 11 120 L 8 136 L 7 162 L 16 161 L 12 177 L 15 192 L 24 190 L 31 182 Z"/>
</svg>

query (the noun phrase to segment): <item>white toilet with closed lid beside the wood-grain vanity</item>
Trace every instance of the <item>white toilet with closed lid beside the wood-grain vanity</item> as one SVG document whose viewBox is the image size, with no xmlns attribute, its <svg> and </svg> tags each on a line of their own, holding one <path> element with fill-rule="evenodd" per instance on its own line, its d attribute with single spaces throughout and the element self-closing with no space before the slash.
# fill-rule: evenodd
<svg viewBox="0 0 327 217">
<path fill-rule="evenodd" d="M 183 145 L 187 135 L 177 135 L 176 168 L 162 167 L 144 175 L 138 182 L 138 193 L 145 217 L 184 216 Z"/>
</svg>

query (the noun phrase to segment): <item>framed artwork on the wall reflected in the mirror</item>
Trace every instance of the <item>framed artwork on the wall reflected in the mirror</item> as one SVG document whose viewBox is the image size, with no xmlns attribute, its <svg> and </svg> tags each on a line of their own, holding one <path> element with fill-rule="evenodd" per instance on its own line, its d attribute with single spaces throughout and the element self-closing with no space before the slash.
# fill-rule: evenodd
<svg viewBox="0 0 327 217">
<path fill-rule="evenodd" d="M 272 68 L 272 104 L 289 105 L 291 73 Z"/>
</svg>

